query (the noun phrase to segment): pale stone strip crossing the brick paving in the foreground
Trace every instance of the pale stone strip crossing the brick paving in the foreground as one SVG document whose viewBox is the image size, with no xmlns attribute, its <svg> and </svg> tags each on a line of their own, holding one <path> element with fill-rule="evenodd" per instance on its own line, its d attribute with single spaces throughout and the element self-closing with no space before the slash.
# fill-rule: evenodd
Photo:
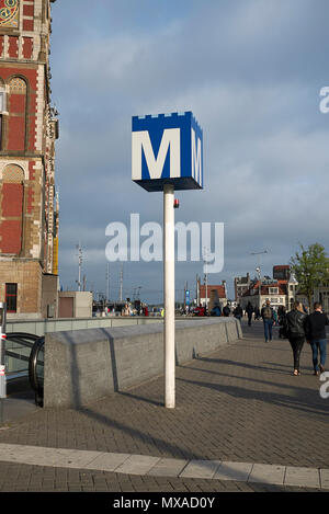
<svg viewBox="0 0 329 514">
<path fill-rule="evenodd" d="M 0 461 L 67 469 L 113 471 L 148 477 L 229 480 L 329 490 L 329 469 L 297 468 L 254 462 L 183 460 L 149 455 L 112 454 L 86 449 L 0 444 Z"/>
</svg>

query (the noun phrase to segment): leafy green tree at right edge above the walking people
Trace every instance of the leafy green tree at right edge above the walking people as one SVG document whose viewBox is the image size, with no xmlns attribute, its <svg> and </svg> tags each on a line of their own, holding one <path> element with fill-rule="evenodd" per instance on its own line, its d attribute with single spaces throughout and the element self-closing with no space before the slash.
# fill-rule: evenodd
<svg viewBox="0 0 329 514">
<path fill-rule="evenodd" d="M 291 259 L 291 269 L 297 282 L 298 289 L 311 306 L 311 297 L 315 287 L 329 278 L 329 259 L 325 247 L 319 243 L 310 244 L 307 249 L 299 243 L 300 251 Z"/>
</svg>

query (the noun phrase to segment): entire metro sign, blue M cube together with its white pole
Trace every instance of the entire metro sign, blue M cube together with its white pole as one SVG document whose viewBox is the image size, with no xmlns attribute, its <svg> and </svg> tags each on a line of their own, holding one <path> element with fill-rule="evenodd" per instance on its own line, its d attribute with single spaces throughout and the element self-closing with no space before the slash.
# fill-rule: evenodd
<svg viewBox="0 0 329 514">
<path fill-rule="evenodd" d="M 175 404 L 174 191 L 203 189 L 203 135 L 190 111 L 134 116 L 132 125 L 132 179 L 146 191 L 163 192 L 164 404 L 172 409 Z"/>
</svg>

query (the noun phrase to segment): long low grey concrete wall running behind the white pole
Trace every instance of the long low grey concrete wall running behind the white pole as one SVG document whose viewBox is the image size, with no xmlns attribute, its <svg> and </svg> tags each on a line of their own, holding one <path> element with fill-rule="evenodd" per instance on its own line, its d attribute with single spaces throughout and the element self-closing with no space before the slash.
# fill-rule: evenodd
<svg viewBox="0 0 329 514">
<path fill-rule="evenodd" d="M 235 318 L 177 321 L 177 365 L 242 338 Z M 163 327 L 101 328 L 45 335 L 44 407 L 79 408 L 163 374 Z"/>
</svg>

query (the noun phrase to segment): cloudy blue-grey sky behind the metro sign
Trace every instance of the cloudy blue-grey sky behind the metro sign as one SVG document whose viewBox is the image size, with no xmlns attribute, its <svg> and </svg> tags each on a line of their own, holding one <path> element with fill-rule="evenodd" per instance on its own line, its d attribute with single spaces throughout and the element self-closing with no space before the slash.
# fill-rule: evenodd
<svg viewBox="0 0 329 514">
<path fill-rule="evenodd" d="M 106 294 L 105 229 L 162 224 L 162 195 L 132 182 L 132 116 L 192 111 L 203 128 L 204 190 L 177 192 L 175 221 L 224 224 L 209 284 L 287 264 L 328 240 L 327 0 L 57 0 L 52 102 L 59 112 L 59 274 Z M 266 253 L 260 253 L 266 250 Z M 260 253 L 254 255 L 252 253 Z M 121 262 L 110 262 L 110 298 Z M 177 262 L 175 297 L 203 262 Z M 125 262 L 123 297 L 161 302 L 162 264 Z"/>
</svg>

